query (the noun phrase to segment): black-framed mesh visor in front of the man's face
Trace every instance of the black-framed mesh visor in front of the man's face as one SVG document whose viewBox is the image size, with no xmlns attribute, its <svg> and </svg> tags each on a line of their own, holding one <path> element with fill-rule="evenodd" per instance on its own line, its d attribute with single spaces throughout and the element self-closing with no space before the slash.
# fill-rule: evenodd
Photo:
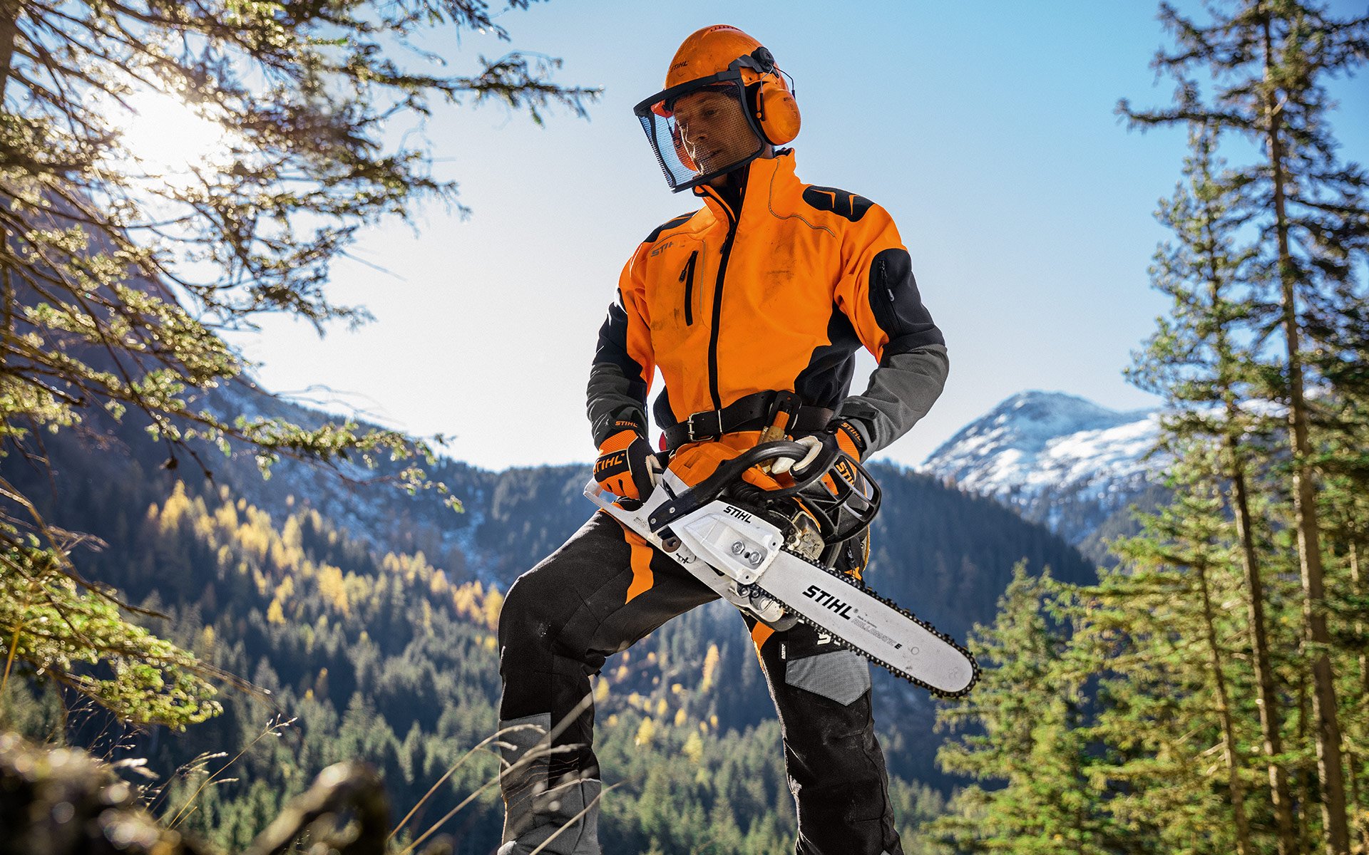
<svg viewBox="0 0 1369 855">
<path fill-rule="evenodd" d="M 634 112 L 676 193 L 731 172 L 765 150 L 737 70 L 658 92 Z"/>
</svg>

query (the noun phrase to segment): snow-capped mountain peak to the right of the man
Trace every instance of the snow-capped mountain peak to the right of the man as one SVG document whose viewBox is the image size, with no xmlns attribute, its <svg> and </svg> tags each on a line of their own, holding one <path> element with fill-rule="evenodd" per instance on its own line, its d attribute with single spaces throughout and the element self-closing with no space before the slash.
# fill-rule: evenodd
<svg viewBox="0 0 1369 855">
<path fill-rule="evenodd" d="M 1079 544 L 1153 487 L 1158 430 L 1158 409 L 1117 412 L 1024 391 L 967 424 L 919 469 L 998 498 Z"/>
</svg>

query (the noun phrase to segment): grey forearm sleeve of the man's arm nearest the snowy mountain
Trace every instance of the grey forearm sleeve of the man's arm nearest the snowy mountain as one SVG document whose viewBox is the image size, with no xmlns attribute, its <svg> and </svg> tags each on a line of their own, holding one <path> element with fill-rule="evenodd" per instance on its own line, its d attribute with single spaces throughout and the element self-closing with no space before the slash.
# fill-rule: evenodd
<svg viewBox="0 0 1369 855">
<path fill-rule="evenodd" d="M 927 415 L 941 397 L 950 372 L 945 345 L 923 345 L 887 353 L 869 375 L 864 394 L 836 408 L 865 436 L 865 457 L 886 449 Z"/>
</svg>

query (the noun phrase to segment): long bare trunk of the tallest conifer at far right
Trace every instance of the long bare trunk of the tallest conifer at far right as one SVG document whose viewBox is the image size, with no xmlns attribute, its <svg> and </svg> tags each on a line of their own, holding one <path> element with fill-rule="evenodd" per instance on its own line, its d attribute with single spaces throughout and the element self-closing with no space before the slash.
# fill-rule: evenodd
<svg viewBox="0 0 1369 855">
<path fill-rule="evenodd" d="M 1269 16 L 1264 19 L 1265 81 L 1273 77 L 1273 33 Z M 1292 447 L 1292 508 L 1298 529 L 1298 558 L 1302 565 L 1303 635 L 1313 650 L 1312 715 L 1317 737 L 1317 777 L 1321 781 L 1321 819 L 1327 833 L 1327 855 L 1348 855 L 1350 830 L 1346 822 L 1346 781 L 1340 758 L 1340 725 L 1336 721 L 1336 688 L 1327 653 L 1321 538 L 1317 521 L 1317 497 L 1313 483 L 1312 445 L 1307 439 L 1307 402 L 1303 397 L 1303 367 L 1299 350 L 1294 260 L 1288 248 L 1288 216 L 1284 197 L 1284 155 L 1280 140 L 1280 104 L 1276 88 L 1265 90 L 1265 134 L 1269 144 L 1269 167 L 1275 190 L 1275 233 L 1279 252 L 1279 287 L 1283 309 L 1284 342 L 1288 356 L 1288 435 Z"/>
</svg>

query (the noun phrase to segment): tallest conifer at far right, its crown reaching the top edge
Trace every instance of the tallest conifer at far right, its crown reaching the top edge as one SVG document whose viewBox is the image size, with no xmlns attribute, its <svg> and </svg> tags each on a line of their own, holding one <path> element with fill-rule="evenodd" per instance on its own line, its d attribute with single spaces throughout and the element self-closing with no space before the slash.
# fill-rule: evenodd
<svg viewBox="0 0 1369 855">
<path fill-rule="evenodd" d="M 1333 393 L 1309 353 L 1340 352 L 1335 316 L 1362 297 L 1351 287 L 1369 245 L 1365 176 L 1342 166 L 1327 127 L 1325 82 L 1369 56 L 1369 18 L 1340 21 L 1321 4 L 1239 0 L 1210 8 L 1202 23 L 1161 5 L 1177 48 L 1155 57 L 1179 81 L 1173 107 L 1121 111 L 1135 124 L 1203 122 L 1243 135 L 1261 159 L 1235 170 L 1239 207 L 1258 235 L 1259 263 L 1279 305 L 1279 376 L 1272 397 L 1287 408 L 1288 491 L 1303 584 L 1303 627 L 1312 672 L 1322 826 L 1328 855 L 1348 852 L 1346 782 L 1336 680 L 1327 617 L 1325 542 L 1317 503 L 1317 399 Z M 1205 98 L 1194 74 L 1206 68 Z M 1309 386 L 1317 393 L 1309 395 Z"/>
</svg>

